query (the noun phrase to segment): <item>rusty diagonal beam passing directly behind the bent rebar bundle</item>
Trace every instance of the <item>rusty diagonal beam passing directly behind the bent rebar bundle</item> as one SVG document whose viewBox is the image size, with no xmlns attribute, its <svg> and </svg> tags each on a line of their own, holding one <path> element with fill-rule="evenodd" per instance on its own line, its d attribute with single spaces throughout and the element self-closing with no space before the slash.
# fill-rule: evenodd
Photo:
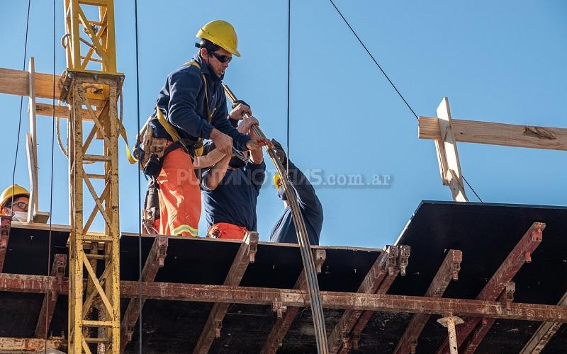
<svg viewBox="0 0 567 354">
<path fill-rule="evenodd" d="M 321 267 L 323 263 L 325 263 L 325 259 L 327 258 L 327 252 L 324 249 L 314 249 L 313 253 L 315 255 L 313 258 L 315 259 L 315 268 L 317 268 L 317 273 L 321 273 Z M 299 275 L 298 280 L 296 281 L 296 285 L 293 289 L 307 289 L 307 280 L 305 279 L 305 271 L 302 271 Z M 278 351 L 278 348 L 281 346 L 283 342 L 283 338 L 285 338 L 286 333 L 288 333 L 289 327 L 293 323 L 293 319 L 296 318 L 299 310 L 301 307 L 287 307 L 286 311 L 283 312 L 282 316 L 277 316 L 276 322 L 274 326 L 271 328 L 269 333 L 268 339 L 260 353 L 262 354 L 275 354 Z M 279 312 L 278 314 L 280 314 Z"/>
</svg>

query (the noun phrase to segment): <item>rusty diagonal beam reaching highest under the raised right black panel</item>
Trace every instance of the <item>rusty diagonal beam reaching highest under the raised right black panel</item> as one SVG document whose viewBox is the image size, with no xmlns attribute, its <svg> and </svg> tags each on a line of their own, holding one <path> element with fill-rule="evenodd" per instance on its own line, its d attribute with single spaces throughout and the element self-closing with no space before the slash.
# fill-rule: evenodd
<svg viewBox="0 0 567 354">
<path fill-rule="evenodd" d="M 532 226 L 527 229 L 522 239 L 518 241 L 492 278 L 488 280 L 476 299 L 492 301 L 500 296 L 505 290 L 506 285 L 512 282 L 512 278 L 514 278 L 518 270 L 522 268 L 522 265 L 532 261 L 532 252 L 537 249 L 537 246 L 541 243 L 544 228 L 545 224 L 543 222 L 534 222 Z M 459 326 L 459 333 L 457 333 L 456 338 L 459 347 L 464 343 L 473 329 L 475 329 L 482 317 L 483 316 L 478 316 L 464 319 L 464 324 Z M 488 332 L 488 329 L 486 329 L 486 332 Z M 449 353 L 447 340 L 444 341 L 436 353 Z"/>
</svg>

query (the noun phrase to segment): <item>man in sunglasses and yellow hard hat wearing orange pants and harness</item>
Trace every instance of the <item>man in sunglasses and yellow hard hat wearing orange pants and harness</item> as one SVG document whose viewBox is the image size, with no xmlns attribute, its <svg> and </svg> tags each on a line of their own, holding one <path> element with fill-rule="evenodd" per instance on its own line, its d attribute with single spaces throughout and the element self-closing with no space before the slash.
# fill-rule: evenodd
<svg viewBox="0 0 567 354">
<path fill-rule="evenodd" d="M 240 57 L 232 25 L 212 21 L 196 36 L 201 39 L 198 52 L 167 76 L 150 118 L 152 136 L 168 140 L 163 156 L 157 156 L 160 168 L 152 169 L 159 188 L 159 234 L 198 236 L 201 191 L 192 158 L 202 139 L 212 140 L 225 155 L 232 155 L 232 147 L 243 151 L 269 144 L 267 139 L 241 134 L 227 120 L 252 114 L 247 105 L 238 104 L 230 113 L 226 105 L 222 79 L 232 55 Z"/>
</svg>

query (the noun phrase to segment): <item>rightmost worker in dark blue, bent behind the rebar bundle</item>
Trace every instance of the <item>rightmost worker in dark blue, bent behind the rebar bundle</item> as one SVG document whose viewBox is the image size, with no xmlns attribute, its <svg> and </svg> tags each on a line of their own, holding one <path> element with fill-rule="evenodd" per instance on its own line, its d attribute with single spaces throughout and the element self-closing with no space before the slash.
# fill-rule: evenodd
<svg viewBox="0 0 567 354">
<path fill-rule="evenodd" d="M 303 215 L 303 220 L 305 220 L 305 229 L 307 229 L 309 243 L 318 245 L 323 226 L 323 207 L 315 194 L 315 188 L 309 183 L 308 178 L 303 172 L 288 160 L 281 144 L 274 139 L 272 139 L 271 142 L 274 145 L 276 156 L 279 161 L 281 161 L 283 168 L 286 169 L 286 167 L 288 167 L 288 180 L 296 191 L 299 208 Z M 285 210 L 283 210 L 283 215 L 281 215 L 278 222 L 276 222 L 274 229 L 271 229 L 270 241 L 297 244 L 296 226 L 293 224 L 291 207 L 288 203 L 286 193 L 283 190 L 281 176 L 278 174 L 274 176 L 274 185 L 278 190 L 279 198 L 283 200 Z"/>
</svg>

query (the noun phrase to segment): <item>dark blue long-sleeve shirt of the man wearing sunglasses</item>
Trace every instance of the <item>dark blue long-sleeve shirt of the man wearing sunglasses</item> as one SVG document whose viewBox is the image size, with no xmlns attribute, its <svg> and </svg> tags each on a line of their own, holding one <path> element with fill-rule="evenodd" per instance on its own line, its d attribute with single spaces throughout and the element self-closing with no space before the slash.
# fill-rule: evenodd
<svg viewBox="0 0 567 354">
<path fill-rule="evenodd" d="M 246 143 L 250 137 L 238 132 L 226 119 L 228 108 L 222 81 L 209 71 L 208 65 L 201 57 L 196 55 L 193 60 L 201 65 L 201 69 L 193 65 L 183 65 L 169 74 L 165 85 L 159 91 L 157 107 L 176 127 L 181 139 L 193 141 L 200 137 L 209 139 L 210 131 L 215 127 L 232 137 L 232 142 L 237 149 L 246 150 Z M 208 111 L 212 115 L 210 122 L 208 122 L 205 86 L 201 73 L 207 80 Z M 152 118 L 150 123 L 155 128 L 156 137 L 171 139 L 157 118 Z"/>
</svg>

